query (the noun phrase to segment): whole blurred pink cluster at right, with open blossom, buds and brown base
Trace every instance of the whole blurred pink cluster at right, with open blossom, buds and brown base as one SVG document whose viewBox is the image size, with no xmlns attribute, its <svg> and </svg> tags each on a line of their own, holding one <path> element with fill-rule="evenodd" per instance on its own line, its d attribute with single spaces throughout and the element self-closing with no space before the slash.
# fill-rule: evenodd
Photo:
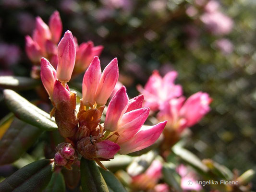
<svg viewBox="0 0 256 192">
<path fill-rule="evenodd" d="M 163 132 L 167 142 L 164 148 L 170 148 L 171 144 L 179 140 L 180 133 L 185 128 L 201 120 L 210 111 L 209 104 L 212 101 L 209 95 L 203 92 L 197 92 L 185 100 L 181 85 L 174 84 L 176 77 L 177 72 L 174 71 L 168 72 L 163 78 L 155 71 L 144 89 L 138 86 L 138 90 L 146 98 L 144 106 L 158 110 L 159 121 L 168 120 Z"/>
</svg>

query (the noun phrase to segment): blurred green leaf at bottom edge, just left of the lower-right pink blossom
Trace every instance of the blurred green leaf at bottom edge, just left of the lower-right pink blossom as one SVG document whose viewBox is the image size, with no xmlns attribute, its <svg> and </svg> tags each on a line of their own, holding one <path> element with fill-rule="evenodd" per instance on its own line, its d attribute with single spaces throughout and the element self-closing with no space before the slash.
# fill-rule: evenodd
<svg viewBox="0 0 256 192">
<path fill-rule="evenodd" d="M 175 166 L 171 166 L 170 164 L 165 164 L 162 168 L 163 179 L 164 181 L 176 189 L 177 192 L 183 192 L 180 185 L 180 177 L 178 173 L 175 171 Z"/>
</svg>

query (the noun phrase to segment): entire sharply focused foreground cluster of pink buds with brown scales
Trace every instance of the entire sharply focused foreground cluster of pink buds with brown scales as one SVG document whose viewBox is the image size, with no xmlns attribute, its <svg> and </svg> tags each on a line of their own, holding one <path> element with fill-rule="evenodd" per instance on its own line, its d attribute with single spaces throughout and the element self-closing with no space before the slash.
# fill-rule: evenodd
<svg viewBox="0 0 256 192">
<path fill-rule="evenodd" d="M 41 59 L 41 80 L 54 106 L 50 114 L 68 142 L 57 147 L 56 164 L 70 168 L 76 155 L 70 158 L 67 154 L 79 153 L 103 167 L 100 161 L 118 152 L 128 154 L 153 144 L 167 121 L 143 125 L 149 114 L 149 108 L 142 108 L 144 96 L 129 99 L 124 86 L 110 100 L 105 123 L 100 123 L 119 76 L 116 58 L 101 72 L 100 60 L 94 57 L 84 75 L 83 97 L 76 112 L 76 93 L 67 85 L 74 69 L 75 49 L 73 35 L 67 31 L 58 45 L 57 71 L 47 59 Z"/>
</svg>

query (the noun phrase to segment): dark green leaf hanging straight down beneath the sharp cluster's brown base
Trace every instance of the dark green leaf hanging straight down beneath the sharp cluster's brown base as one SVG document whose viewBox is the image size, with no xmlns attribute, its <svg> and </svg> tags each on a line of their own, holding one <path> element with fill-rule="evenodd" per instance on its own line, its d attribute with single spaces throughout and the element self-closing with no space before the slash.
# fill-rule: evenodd
<svg viewBox="0 0 256 192">
<path fill-rule="evenodd" d="M 83 157 L 81 159 L 81 185 L 83 192 L 109 192 L 95 161 Z"/>
</svg>

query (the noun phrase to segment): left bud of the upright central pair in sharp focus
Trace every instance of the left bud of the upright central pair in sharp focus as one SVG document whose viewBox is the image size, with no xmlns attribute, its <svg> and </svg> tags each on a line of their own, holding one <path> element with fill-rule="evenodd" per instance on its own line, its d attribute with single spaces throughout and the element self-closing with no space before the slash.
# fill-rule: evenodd
<svg viewBox="0 0 256 192">
<path fill-rule="evenodd" d="M 101 76 L 100 61 L 98 57 L 94 57 L 83 79 L 83 104 L 95 104 L 95 93 Z"/>
</svg>

